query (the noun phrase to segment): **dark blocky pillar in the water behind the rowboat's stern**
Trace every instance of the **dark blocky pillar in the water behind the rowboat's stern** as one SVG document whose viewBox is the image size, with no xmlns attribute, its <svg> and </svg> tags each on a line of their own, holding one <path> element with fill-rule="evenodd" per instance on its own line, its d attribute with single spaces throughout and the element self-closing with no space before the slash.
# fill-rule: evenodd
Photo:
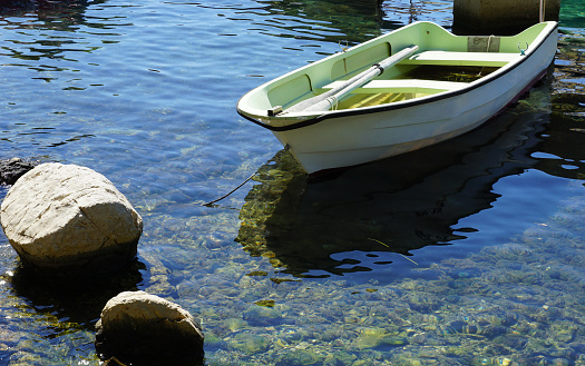
<svg viewBox="0 0 585 366">
<path fill-rule="evenodd" d="M 514 34 L 545 20 L 558 20 L 560 0 L 454 0 L 454 31 Z"/>
</svg>

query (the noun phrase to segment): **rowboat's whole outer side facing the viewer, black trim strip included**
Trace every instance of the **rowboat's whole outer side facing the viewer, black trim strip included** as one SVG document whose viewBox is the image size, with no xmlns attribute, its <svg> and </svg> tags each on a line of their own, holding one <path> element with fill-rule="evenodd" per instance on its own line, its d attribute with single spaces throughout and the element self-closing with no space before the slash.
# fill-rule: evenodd
<svg viewBox="0 0 585 366">
<path fill-rule="evenodd" d="M 555 27 L 519 62 L 466 88 L 411 102 L 333 112 L 273 133 L 308 174 L 420 149 L 470 131 L 506 109 L 545 76 L 556 46 Z"/>
</svg>

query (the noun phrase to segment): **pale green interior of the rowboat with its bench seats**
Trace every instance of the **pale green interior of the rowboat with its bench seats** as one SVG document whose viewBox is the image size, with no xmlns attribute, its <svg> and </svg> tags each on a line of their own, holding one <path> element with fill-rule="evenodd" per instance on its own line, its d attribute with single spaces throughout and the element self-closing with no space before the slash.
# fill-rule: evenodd
<svg viewBox="0 0 585 366">
<path fill-rule="evenodd" d="M 423 24 L 413 43 L 419 50 L 386 69 L 373 80 L 338 100 L 333 109 L 351 109 L 422 98 L 465 88 L 510 62 L 521 59 L 547 23 L 533 26 L 511 37 L 455 36 L 438 26 Z M 418 37 L 418 39 L 417 39 Z M 407 38 L 407 37 L 403 37 Z M 271 106 L 282 109 L 332 90 L 345 80 L 371 68 L 372 60 L 384 60 L 408 44 L 400 37 L 381 38 L 367 47 L 339 53 L 323 65 L 292 75 L 266 90 Z M 437 49 L 441 44 L 442 49 Z M 291 95 L 295 97 L 291 100 Z M 270 115 L 270 112 L 269 112 Z"/>
</svg>

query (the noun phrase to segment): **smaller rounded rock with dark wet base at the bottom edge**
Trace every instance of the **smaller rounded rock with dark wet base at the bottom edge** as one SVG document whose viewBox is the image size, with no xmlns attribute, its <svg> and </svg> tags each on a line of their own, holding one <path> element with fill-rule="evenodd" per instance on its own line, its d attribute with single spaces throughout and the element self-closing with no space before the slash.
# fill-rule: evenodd
<svg viewBox="0 0 585 366">
<path fill-rule="evenodd" d="M 103 359 L 166 365 L 203 362 L 201 325 L 181 306 L 145 291 L 111 298 L 96 328 L 96 350 Z"/>
</svg>

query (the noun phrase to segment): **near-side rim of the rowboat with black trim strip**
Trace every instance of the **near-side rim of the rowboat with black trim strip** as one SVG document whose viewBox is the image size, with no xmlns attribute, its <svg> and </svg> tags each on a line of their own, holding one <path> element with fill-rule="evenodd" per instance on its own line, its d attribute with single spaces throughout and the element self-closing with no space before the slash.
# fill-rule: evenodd
<svg viewBox="0 0 585 366">
<path fill-rule="evenodd" d="M 244 117 L 245 119 L 250 120 L 251 122 L 254 122 L 254 123 L 256 123 L 256 125 L 259 125 L 261 127 L 264 127 L 264 128 L 266 128 L 266 129 L 269 129 L 271 131 L 282 132 L 282 131 L 290 131 L 290 130 L 294 130 L 294 129 L 309 127 L 309 126 L 312 126 L 312 125 L 315 125 L 315 123 L 319 123 L 319 122 L 322 122 L 322 121 L 329 120 L 329 119 L 335 119 L 335 118 L 342 118 L 342 117 L 351 117 L 351 116 L 360 116 L 360 115 L 379 113 L 379 112 L 387 112 L 387 111 L 390 111 L 390 110 L 399 110 L 399 109 L 403 109 L 403 108 L 411 108 L 411 107 L 416 107 L 416 106 L 420 106 L 420 105 L 426 105 L 426 103 L 430 103 L 430 102 L 440 101 L 440 100 L 443 100 L 443 99 L 458 97 L 458 96 L 465 95 L 467 92 L 470 92 L 471 90 L 480 88 L 480 87 L 482 87 L 482 86 L 485 86 L 487 83 L 490 83 L 490 82 L 493 82 L 495 80 L 498 80 L 501 77 L 505 77 L 506 75 L 508 75 L 509 72 L 511 72 L 513 70 L 518 68 L 520 65 L 523 65 L 526 60 L 528 60 L 533 55 L 535 55 L 537 52 L 537 50 L 546 42 L 546 40 L 548 40 L 550 34 L 554 33 L 555 31 L 557 31 L 558 22 L 548 21 L 547 23 L 555 23 L 555 24 L 554 24 L 554 27 L 550 28 L 550 30 L 546 33 L 546 36 L 544 36 L 542 38 L 542 40 L 538 42 L 536 48 L 533 48 L 530 50 L 530 52 L 526 55 L 526 57 L 523 57 L 519 60 L 514 61 L 513 63 L 509 65 L 509 67 L 504 67 L 503 69 L 500 69 L 501 72 L 494 72 L 491 75 L 488 75 L 485 78 L 481 78 L 481 79 L 479 79 L 479 80 L 477 80 L 475 82 L 471 82 L 471 83 L 469 83 L 469 86 L 467 86 L 465 88 L 461 88 L 461 89 L 442 91 L 442 92 L 437 93 L 435 96 L 427 96 L 425 98 L 411 99 L 411 100 L 407 100 L 407 101 L 401 102 L 401 103 L 387 103 L 387 105 L 373 106 L 373 107 L 368 107 L 368 108 L 357 108 L 357 109 L 328 111 L 328 112 L 324 112 L 323 115 L 320 115 L 318 117 L 314 117 L 314 118 L 311 118 L 311 119 L 304 119 L 304 120 L 301 120 L 299 122 L 293 122 L 293 123 L 290 123 L 290 125 L 286 125 L 286 126 L 271 126 L 271 125 L 267 125 L 267 123 L 265 123 L 265 122 L 263 122 L 261 120 L 257 120 L 257 119 L 255 119 L 255 118 L 253 118 L 251 116 L 245 115 L 240 108 L 237 108 L 237 113 L 240 116 Z M 546 29 L 546 27 L 545 27 L 545 29 Z M 543 31 L 545 29 L 543 29 Z M 539 37 L 540 34 L 542 34 L 542 32 L 538 33 L 537 37 Z M 244 97 L 242 97 L 242 98 L 244 98 Z M 238 101 L 238 105 L 240 105 L 240 101 Z M 290 116 L 290 118 L 293 118 L 293 116 Z"/>
</svg>

